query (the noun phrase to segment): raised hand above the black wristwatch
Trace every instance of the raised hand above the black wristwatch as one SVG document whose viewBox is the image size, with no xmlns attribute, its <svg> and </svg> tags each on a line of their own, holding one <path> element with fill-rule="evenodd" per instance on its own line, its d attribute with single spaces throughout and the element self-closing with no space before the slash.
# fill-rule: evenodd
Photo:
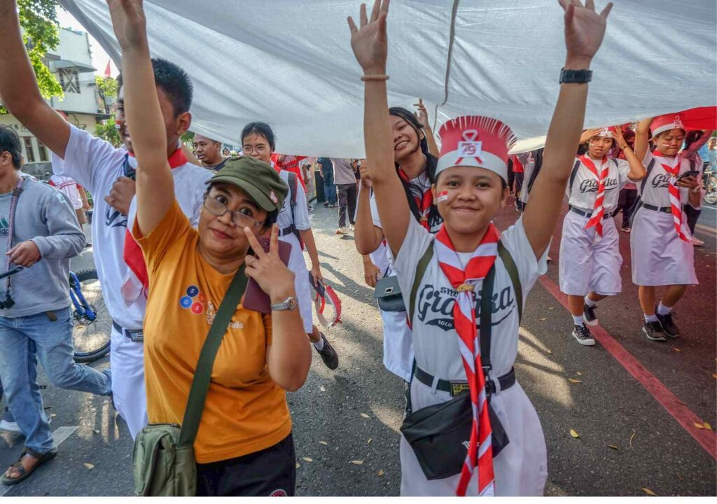
<svg viewBox="0 0 717 504">
<path fill-rule="evenodd" d="M 594 0 L 585 0 L 584 6 L 580 0 L 559 2 L 565 10 L 565 45 L 568 49 L 566 68 L 587 68 L 602 44 L 612 2 L 600 14 L 595 11 Z"/>
</svg>

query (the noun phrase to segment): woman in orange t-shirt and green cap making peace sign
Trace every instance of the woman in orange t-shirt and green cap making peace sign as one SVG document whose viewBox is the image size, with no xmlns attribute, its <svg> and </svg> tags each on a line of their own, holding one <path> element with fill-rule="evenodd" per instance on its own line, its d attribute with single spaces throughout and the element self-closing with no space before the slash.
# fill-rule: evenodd
<svg viewBox="0 0 717 504">
<path fill-rule="evenodd" d="M 250 156 L 227 160 L 209 180 L 199 229 L 174 197 L 166 125 L 138 2 L 110 5 L 122 47 L 125 113 L 138 160 L 133 235 L 149 275 L 144 325 L 148 416 L 181 423 L 201 347 L 235 272 L 268 295 L 270 315 L 237 306 L 212 370 L 194 441 L 198 495 L 293 495 L 295 454 L 285 391 L 311 361 L 294 290 L 278 255 L 278 210 L 288 187 Z M 271 229 L 270 250 L 257 238 Z"/>
</svg>

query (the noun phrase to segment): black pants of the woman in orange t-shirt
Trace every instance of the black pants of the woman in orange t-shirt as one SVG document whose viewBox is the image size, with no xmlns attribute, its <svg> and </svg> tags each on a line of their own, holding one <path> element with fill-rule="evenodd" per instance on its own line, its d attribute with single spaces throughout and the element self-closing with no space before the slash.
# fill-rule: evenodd
<svg viewBox="0 0 717 504">
<path fill-rule="evenodd" d="M 274 446 L 235 459 L 196 465 L 198 497 L 293 497 L 296 455 L 292 434 Z"/>
</svg>

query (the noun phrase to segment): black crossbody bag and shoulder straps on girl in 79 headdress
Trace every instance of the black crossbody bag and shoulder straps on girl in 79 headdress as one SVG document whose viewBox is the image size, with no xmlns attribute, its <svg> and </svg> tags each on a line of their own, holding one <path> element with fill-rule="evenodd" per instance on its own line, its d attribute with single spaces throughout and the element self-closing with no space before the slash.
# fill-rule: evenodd
<svg viewBox="0 0 717 504">
<path fill-rule="evenodd" d="M 433 247 L 424 254 L 419 262 L 425 266 L 433 255 Z M 503 260 L 505 269 L 511 277 L 513 289 L 516 291 L 516 304 L 518 306 L 518 321 L 523 315 L 523 291 L 521 288 L 518 268 L 508 249 L 498 242 L 498 255 Z M 419 283 L 423 275 L 416 275 L 411 293 L 411 306 L 409 313 L 413 315 L 413 308 Z M 483 280 L 480 297 L 480 355 L 481 366 L 490 371 L 490 338 L 492 332 L 491 316 L 493 314 L 493 290 L 495 286 L 495 264 L 490 268 Z M 413 318 L 411 318 L 413 320 Z M 416 362 L 414 361 L 414 371 Z M 486 376 L 488 381 L 489 376 Z M 505 433 L 498 415 L 490 406 L 490 393 L 488 393 L 488 416 L 493 430 L 493 457 L 508 445 L 508 434 Z M 473 408 L 470 402 L 470 391 L 462 391 L 449 401 L 434 404 L 412 412 L 411 390 L 407 393 L 407 416 L 401 426 L 401 432 L 411 445 L 421 469 L 427 480 L 440 480 L 459 474 L 467 455 L 467 442 L 470 440 L 470 429 L 473 424 Z"/>
</svg>

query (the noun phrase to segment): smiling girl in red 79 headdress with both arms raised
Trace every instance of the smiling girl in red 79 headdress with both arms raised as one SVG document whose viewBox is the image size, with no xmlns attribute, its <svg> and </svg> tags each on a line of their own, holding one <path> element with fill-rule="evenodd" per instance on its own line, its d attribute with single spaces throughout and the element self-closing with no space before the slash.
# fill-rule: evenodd
<svg viewBox="0 0 717 504">
<path fill-rule="evenodd" d="M 397 197 L 402 186 L 393 169 L 386 103 L 388 2 L 376 1 L 370 17 L 362 7 L 361 29 L 353 19 L 348 21 L 351 47 L 366 81 L 364 135 L 369 178 L 386 241 L 396 257 L 404 300 L 409 310 L 414 306 L 415 367 L 410 401 L 417 413 L 409 415 L 402 427 L 402 495 L 543 493 L 547 477 L 543 432 L 512 371 L 518 353 L 519 313 L 524 295 L 546 271 L 546 252 L 584 119 L 587 68 L 602 42 L 609 11 L 608 6 L 597 14 L 592 3 L 588 8 L 574 1 L 564 2 L 564 8 L 566 70 L 561 74 L 564 83 L 548 132 L 546 161 L 525 213 L 500 238 L 491 220 L 508 199 L 508 148 L 515 141 L 510 128 L 479 116 L 457 118 L 443 125 L 432 190 L 444 222 L 438 234 L 429 233 L 411 218 L 407 200 Z M 419 269 L 422 275 L 417 275 Z M 521 286 L 520 291 L 516 285 Z M 495 295 L 483 298 L 483 289 L 493 290 Z M 520 298 L 519 292 L 523 293 Z M 480 305 L 486 305 L 485 310 L 479 312 Z M 484 348 L 489 341 L 483 338 L 484 333 L 493 335 L 490 351 Z M 484 359 L 481 351 L 485 351 Z M 489 364 L 485 372 L 484 363 Z M 470 394 L 460 394 L 465 388 Z M 490 403 L 486 400 L 489 392 Z M 457 394 L 453 399 L 452 393 Z M 466 397 L 470 398 L 467 404 Z M 444 406 L 457 406 L 455 419 L 466 414 L 469 419 L 473 417 L 470 433 L 454 431 L 465 432 L 470 438 L 464 437 L 463 444 L 460 437 L 452 437 L 455 450 L 435 448 L 445 447 L 440 439 L 451 434 L 442 427 L 454 417 L 448 416 L 438 425 L 435 422 L 440 413 L 446 413 Z M 491 410 L 494 415 L 490 415 Z M 424 427 L 437 428 L 436 444 L 432 449 L 416 439 L 409 444 L 406 434 L 414 431 L 414 415 L 429 412 Z M 496 446 L 496 452 L 500 452 L 495 458 L 492 433 L 502 447 L 498 450 Z M 507 434 L 507 444 L 500 434 Z M 463 449 L 466 445 L 467 455 Z M 429 480 L 427 475 L 435 479 Z"/>
</svg>

